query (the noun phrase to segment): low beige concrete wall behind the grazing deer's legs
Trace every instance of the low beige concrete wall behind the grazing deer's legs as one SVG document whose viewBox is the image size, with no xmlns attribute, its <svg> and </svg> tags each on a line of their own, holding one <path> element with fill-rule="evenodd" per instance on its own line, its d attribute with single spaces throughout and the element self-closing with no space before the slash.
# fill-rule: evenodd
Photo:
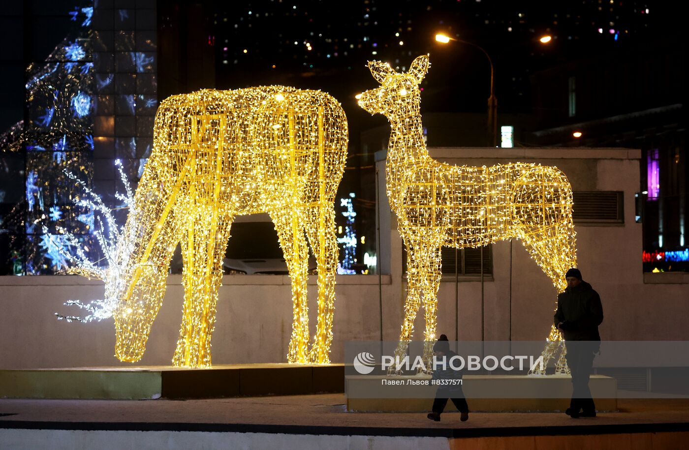
<svg viewBox="0 0 689 450">
<path fill-rule="evenodd" d="M 390 277 L 382 292 L 391 297 Z M 378 277 L 338 276 L 332 360 L 341 362 L 344 343 L 380 339 Z M 309 277 L 309 325 L 316 330 L 316 277 Z M 396 288 L 399 292 L 400 288 Z M 143 359 L 121 363 L 114 355 L 112 319 L 93 323 L 58 321 L 54 312 L 77 314 L 68 299 L 98 299 L 103 283 L 75 276 L 0 277 L 0 368 L 170 365 L 182 317 L 181 275 L 169 275 L 165 299 Z M 385 305 L 383 316 L 393 314 Z M 396 321 L 387 325 L 395 326 Z M 287 362 L 292 307 L 289 277 L 225 275 L 218 294 L 213 363 Z M 389 334 L 389 333 L 387 333 Z"/>
</svg>

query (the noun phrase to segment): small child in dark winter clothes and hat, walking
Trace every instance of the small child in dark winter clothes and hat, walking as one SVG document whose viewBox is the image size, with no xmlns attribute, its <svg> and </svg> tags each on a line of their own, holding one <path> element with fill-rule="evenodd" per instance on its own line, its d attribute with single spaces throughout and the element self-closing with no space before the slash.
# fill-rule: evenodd
<svg viewBox="0 0 689 450">
<path fill-rule="evenodd" d="M 438 342 L 433 345 L 433 355 L 438 358 L 438 367 L 433 370 L 433 380 L 462 380 L 462 373 L 450 367 L 450 358 L 457 356 L 457 354 L 450 350 L 450 343 L 444 334 L 441 334 Z M 443 356 L 445 357 L 444 368 L 441 363 Z M 462 385 L 456 381 L 438 386 L 438 390 L 435 392 L 435 400 L 433 400 L 433 412 L 429 413 L 428 418 L 435 420 L 435 422 L 440 422 L 440 414 L 445 409 L 448 398 L 452 398 L 452 403 L 460 411 L 460 420 L 462 422 L 469 420 L 469 405 L 466 403 L 466 398 L 464 398 Z"/>
</svg>

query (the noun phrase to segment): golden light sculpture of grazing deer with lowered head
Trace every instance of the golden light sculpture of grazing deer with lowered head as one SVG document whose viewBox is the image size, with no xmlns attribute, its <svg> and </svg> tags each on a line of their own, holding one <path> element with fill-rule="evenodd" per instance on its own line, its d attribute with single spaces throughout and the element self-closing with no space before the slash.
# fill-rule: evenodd
<svg viewBox="0 0 689 450">
<path fill-rule="evenodd" d="M 116 356 L 138 361 L 181 242 L 185 299 L 173 364 L 211 365 L 222 261 L 237 215 L 269 213 L 292 283 L 287 360 L 329 363 L 338 245 L 334 200 L 347 158 L 347 118 L 324 92 L 269 86 L 202 90 L 158 108 L 154 149 L 118 246 Z M 318 264 L 318 324 L 309 349 L 307 239 Z"/>
</svg>

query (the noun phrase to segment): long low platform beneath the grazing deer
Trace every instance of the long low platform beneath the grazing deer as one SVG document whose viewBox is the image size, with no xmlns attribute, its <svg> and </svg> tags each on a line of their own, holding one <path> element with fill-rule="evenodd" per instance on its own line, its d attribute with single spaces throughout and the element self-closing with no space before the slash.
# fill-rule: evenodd
<svg viewBox="0 0 689 450">
<path fill-rule="evenodd" d="M 342 364 L 233 364 L 0 370 L 0 398 L 211 398 L 344 390 Z"/>
</svg>

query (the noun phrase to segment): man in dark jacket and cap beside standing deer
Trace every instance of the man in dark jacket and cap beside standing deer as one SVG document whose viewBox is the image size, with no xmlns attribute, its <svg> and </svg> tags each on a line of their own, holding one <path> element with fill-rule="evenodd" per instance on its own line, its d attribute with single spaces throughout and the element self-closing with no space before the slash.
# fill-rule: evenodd
<svg viewBox="0 0 689 450">
<path fill-rule="evenodd" d="M 564 335 L 567 365 L 572 373 L 572 400 L 565 414 L 572 418 L 595 417 L 588 378 L 600 348 L 598 325 L 603 321 L 603 306 L 598 292 L 582 280 L 579 269 L 571 268 L 565 278 L 567 288 L 557 296 L 555 311 L 555 326 Z"/>
</svg>

